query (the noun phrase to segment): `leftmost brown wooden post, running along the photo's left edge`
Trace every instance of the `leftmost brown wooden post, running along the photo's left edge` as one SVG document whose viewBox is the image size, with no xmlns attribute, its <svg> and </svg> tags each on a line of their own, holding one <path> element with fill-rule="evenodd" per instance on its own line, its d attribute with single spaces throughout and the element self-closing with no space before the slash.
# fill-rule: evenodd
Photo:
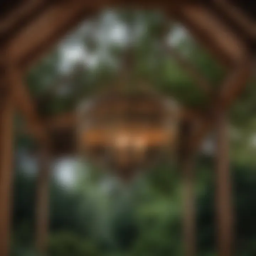
<svg viewBox="0 0 256 256">
<path fill-rule="evenodd" d="M 10 72 L 7 72 L 10 74 Z M 14 100 L 9 78 L 0 80 L 0 255 L 10 254 Z"/>
</svg>

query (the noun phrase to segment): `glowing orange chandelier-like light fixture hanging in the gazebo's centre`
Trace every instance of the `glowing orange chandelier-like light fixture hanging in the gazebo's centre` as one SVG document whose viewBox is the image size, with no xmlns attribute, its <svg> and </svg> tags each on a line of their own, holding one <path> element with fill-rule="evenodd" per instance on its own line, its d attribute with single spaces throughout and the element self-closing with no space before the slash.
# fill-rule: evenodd
<svg viewBox="0 0 256 256">
<path fill-rule="evenodd" d="M 131 178 L 176 146 L 176 103 L 146 90 L 109 91 L 78 110 L 80 153 L 95 164 Z"/>
</svg>

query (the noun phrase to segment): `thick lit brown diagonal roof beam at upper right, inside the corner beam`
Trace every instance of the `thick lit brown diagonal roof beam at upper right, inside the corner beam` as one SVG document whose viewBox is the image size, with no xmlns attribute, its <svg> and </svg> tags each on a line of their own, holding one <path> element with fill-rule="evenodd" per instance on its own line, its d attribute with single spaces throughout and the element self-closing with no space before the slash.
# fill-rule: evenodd
<svg viewBox="0 0 256 256">
<path fill-rule="evenodd" d="M 177 18 L 226 66 L 239 62 L 247 53 L 245 44 L 207 7 L 184 5 Z"/>
</svg>

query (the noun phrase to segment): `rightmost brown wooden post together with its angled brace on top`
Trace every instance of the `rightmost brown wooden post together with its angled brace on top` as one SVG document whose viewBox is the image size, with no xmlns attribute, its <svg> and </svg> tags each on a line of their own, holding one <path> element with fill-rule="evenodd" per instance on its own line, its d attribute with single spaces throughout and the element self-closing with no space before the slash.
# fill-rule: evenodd
<svg viewBox="0 0 256 256">
<path fill-rule="evenodd" d="M 218 101 L 215 103 L 216 125 L 216 221 L 218 255 L 234 254 L 234 216 L 232 186 L 229 166 L 229 132 L 227 123 L 228 107 L 240 94 L 255 68 L 255 58 L 241 62 L 220 88 Z"/>
</svg>

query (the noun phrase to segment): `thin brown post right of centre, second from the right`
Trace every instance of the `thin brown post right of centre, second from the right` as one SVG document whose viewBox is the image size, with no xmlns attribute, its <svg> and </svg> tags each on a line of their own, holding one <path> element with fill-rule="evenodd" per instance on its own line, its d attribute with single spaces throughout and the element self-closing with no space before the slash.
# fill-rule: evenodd
<svg viewBox="0 0 256 256">
<path fill-rule="evenodd" d="M 191 151 L 192 126 L 185 124 L 182 131 L 182 175 L 183 175 L 183 236 L 185 256 L 196 255 L 196 209 L 194 193 L 194 154 Z"/>
</svg>

